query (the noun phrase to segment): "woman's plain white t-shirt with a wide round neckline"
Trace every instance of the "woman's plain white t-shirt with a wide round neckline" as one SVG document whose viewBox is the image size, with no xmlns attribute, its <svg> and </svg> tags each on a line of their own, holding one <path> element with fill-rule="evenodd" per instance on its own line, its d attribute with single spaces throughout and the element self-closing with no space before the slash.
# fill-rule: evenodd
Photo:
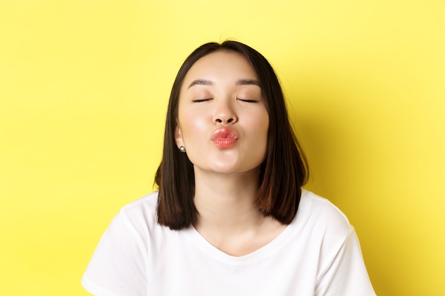
<svg viewBox="0 0 445 296">
<path fill-rule="evenodd" d="M 82 285 L 97 296 L 370 296 L 360 244 L 327 199 L 303 190 L 294 221 L 266 246 L 234 257 L 190 227 L 156 223 L 157 192 L 125 206 Z"/>
</svg>

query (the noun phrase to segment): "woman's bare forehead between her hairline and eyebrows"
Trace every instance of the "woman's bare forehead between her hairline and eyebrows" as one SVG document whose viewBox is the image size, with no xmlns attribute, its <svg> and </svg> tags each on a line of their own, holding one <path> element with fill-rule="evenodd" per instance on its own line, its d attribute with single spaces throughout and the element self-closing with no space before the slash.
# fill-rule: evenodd
<svg viewBox="0 0 445 296">
<path fill-rule="evenodd" d="M 184 83 L 195 79 L 252 79 L 257 80 L 252 65 L 240 53 L 220 50 L 197 60 L 188 70 Z"/>
</svg>

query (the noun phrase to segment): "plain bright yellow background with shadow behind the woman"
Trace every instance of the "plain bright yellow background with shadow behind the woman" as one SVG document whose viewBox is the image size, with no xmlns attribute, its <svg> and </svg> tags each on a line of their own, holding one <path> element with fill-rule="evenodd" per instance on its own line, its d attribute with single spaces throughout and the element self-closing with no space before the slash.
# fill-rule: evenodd
<svg viewBox="0 0 445 296">
<path fill-rule="evenodd" d="M 445 2 L 0 1 L 0 295 L 88 295 L 112 216 L 151 192 L 173 78 L 235 38 L 277 70 L 377 295 L 445 295 Z"/>
</svg>

